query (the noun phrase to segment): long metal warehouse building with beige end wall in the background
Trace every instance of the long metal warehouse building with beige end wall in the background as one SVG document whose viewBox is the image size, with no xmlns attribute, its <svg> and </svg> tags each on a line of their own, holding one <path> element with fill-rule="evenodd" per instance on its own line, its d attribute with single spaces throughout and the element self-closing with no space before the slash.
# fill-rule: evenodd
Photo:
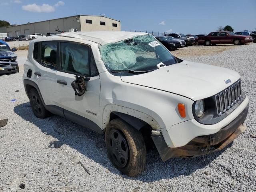
<svg viewBox="0 0 256 192">
<path fill-rule="evenodd" d="M 57 27 L 58 26 L 58 27 Z M 46 35 L 48 32 L 55 30 L 66 31 L 75 28 L 78 31 L 95 31 L 95 30 L 121 30 L 120 20 L 115 20 L 105 16 L 94 15 L 77 15 L 28 24 L 14 25 L 6 27 L 8 36 L 30 35 L 40 33 Z"/>
</svg>

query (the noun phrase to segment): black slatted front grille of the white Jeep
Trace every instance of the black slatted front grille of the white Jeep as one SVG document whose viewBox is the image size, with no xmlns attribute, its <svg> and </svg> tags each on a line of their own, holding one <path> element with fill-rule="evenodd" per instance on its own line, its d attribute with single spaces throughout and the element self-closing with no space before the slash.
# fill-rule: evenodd
<svg viewBox="0 0 256 192">
<path fill-rule="evenodd" d="M 228 111 L 242 98 L 241 80 L 238 80 L 222 92 L 215 95 L 215 104 L 218 116 Z"/>
</svg>

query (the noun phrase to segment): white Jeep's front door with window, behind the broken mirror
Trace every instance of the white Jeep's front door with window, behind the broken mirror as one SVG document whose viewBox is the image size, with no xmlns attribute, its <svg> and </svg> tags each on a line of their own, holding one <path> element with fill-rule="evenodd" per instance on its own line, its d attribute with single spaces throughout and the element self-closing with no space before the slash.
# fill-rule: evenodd
<svg viewBox="0 0 256 192">
<path fill-rule="evenodd" d="M 58 106 L 66 110 L 66 117 L 72 112 L 100 127 L 100 78 L 90 46 L 74 42 L 60 42 L 59 46 L 61 69 L 56 73 Z M 81 74 L 90 77 L 90 80 L 86 81 L 87 91 L 78 96 L 71 83 L 76 79 L 76 75 Z"/>
</svg>

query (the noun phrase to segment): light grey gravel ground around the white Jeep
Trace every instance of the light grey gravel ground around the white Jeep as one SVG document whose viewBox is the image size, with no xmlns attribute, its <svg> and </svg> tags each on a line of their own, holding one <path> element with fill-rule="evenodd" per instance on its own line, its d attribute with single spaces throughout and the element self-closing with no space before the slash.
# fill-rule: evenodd
<svg viewBox="0 0 256 192">
<path fill-rule="evenodd" d="M 250 137 L 256 134 L 255 50 L 256 44 L 249 44 L 214 55 L 183 57 L 241 74 L 250 97 L 246 132 L 224 150 L 192 159 L 162 162 L 151 150 L 147 170 L 134 178 L 112 166 L 103 136 L 59 116 L 36 118 L 22 72 L 0 76 L 0 118 L 9 118 L 0 128 L 0 191 L 256 191 L 256 138 Z M 17 54 L 22 65 L 24 52 Z"/>
</svg>

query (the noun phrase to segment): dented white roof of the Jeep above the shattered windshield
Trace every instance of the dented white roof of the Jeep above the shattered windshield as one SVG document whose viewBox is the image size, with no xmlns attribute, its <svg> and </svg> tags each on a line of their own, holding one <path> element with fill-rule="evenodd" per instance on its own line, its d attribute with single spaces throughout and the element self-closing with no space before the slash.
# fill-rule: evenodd
<svg viewBox="0 0 256 192">
<path fill-rule="evenodd" d="M 126 31 L 88 31 L 88 32 L 61 33 L 55 36 L 84 39 L 84 40 L 89 40 L 89 41 L 104 45 L 107 43 L 114 43 L 121 40 L 129 39 L 136 35 L 147 35 L 147 34 L 148 33 L 126 32 Z"/>
</svg>

